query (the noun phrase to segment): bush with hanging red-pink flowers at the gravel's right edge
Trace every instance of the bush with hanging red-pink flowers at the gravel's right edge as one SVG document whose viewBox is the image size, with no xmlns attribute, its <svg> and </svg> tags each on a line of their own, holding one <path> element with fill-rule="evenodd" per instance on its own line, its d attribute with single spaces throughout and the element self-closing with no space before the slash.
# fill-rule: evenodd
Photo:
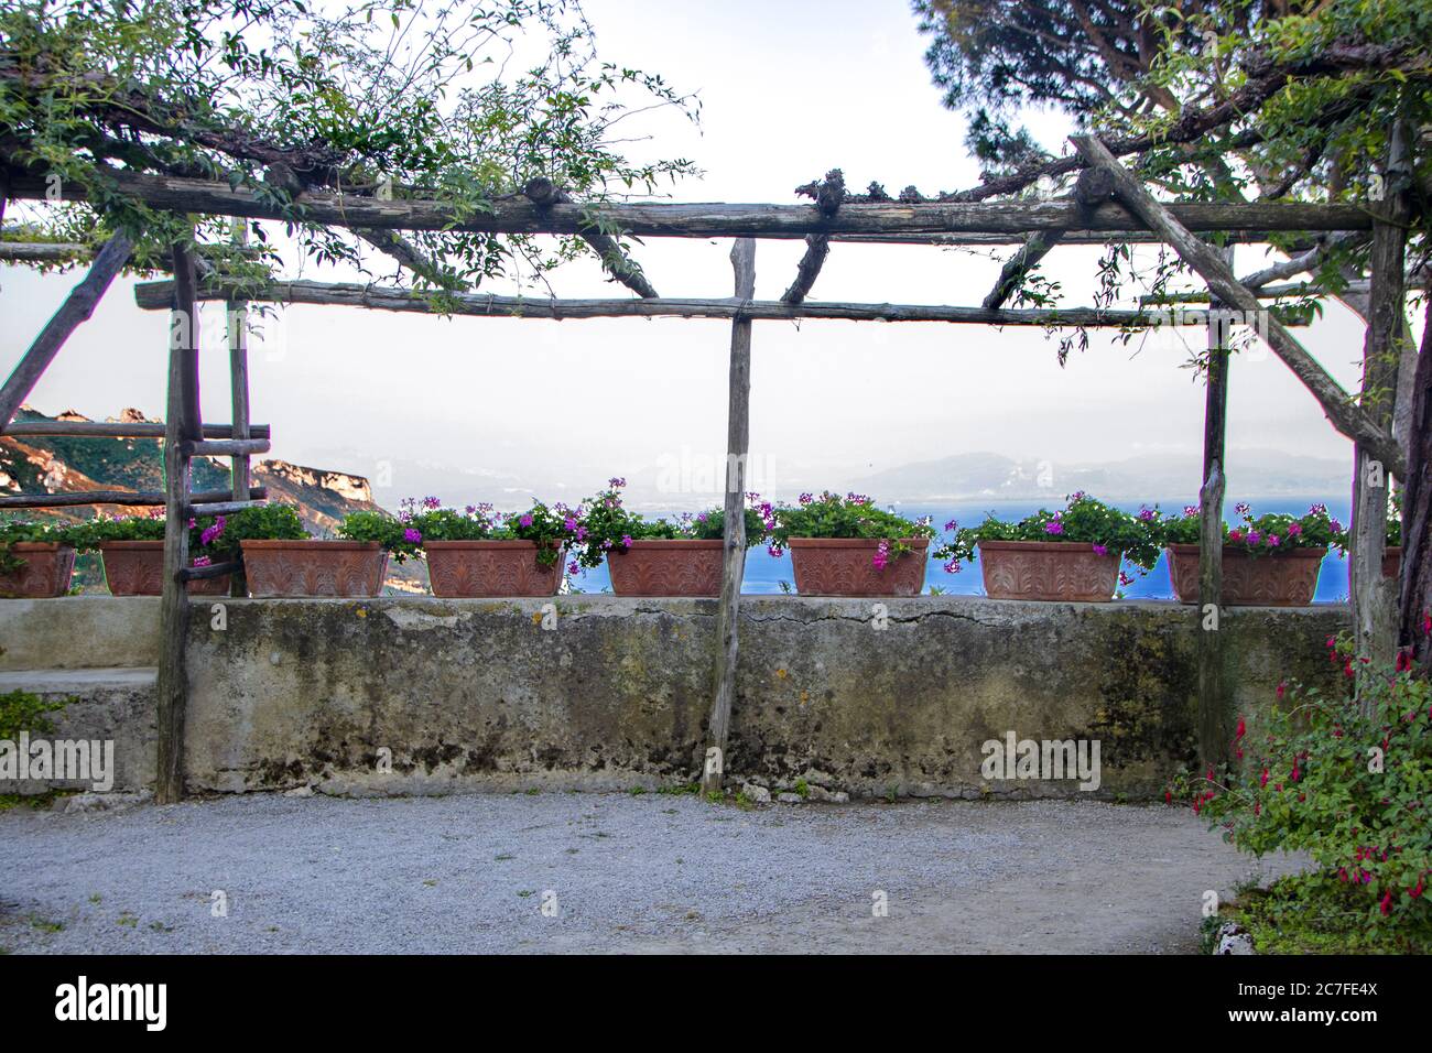
<svg viewBox="0 0 1432 1053">
<path fill-rule="evenodd" d="M 1349 639 L 1329 656 L 1352 672 Z M 1240 851 L 1306 851 L 1302 901 L 1329 918 L 1356 911 L 1359 928 L 1432 934 L 1432 682 L 1395 670 L 1360 678 L 1362 705 L 1280 685 L 1282 705 L 1253 734 L 1240 718 L 1239 764 L 1227 781 L 1209 771 L 1193 808 Z M 1372 672 L 1370 669 L 1368 672 Z"/>
</svg>

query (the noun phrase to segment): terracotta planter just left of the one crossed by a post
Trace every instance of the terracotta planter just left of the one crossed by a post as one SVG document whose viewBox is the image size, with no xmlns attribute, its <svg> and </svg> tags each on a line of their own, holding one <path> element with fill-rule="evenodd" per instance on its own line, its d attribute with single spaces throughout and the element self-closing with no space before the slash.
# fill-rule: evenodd
<svg viewBox="0 0 1432 1053">
<path fill-rule="evenodd" d="M 985 592 L 998 600 L 1108 603 L 1118 562 L 1087 542 L 979 542 Z"/>
</svg>

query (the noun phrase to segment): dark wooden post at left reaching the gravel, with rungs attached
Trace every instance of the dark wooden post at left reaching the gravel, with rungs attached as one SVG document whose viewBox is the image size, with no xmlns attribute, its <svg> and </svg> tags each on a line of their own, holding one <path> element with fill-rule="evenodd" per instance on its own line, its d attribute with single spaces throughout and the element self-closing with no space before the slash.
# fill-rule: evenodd
<svg viewBox="0 0 1432 1053">
<path fill-rule="evenodd" d="M 173 246 L 175 305 L 169 318 L 169 400 L 165 413 L 165 577 L 159 600 L 159 758 L 155 801 L 183 798 L 183 726 L 189 696 L 185 643 L 189 638 L 188 443 L 200 436 L 199 318 L 193 255 Z"/>
</svg>

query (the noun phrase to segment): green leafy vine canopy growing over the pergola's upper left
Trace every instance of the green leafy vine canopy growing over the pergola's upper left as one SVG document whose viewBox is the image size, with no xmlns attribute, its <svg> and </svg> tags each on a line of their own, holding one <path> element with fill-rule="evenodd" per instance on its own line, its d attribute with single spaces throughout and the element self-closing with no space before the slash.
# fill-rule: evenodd
<svg viewBox="0 0 1432 1053">
<path fill-rule="evenodd" d="M 364 268 L 352 235 L 305 222 L 298 192 L 435 198 L 460 213 L 537 176 L 581 201 L 653 192 L 693 166 L 627 156 L 619 122 L 652 106 L 696 117 L 660 76 L 599 60 L 577 0 L 0 0 L 0 162 L 83 189 L 83 203 L 39 212 L 44 236 L 123 228 L 140 262 L 189 222 L 119 195 L 120 169 L 251 188 L 288 209 L 308 256 Z M 441 288 L 586 251 L 361 234 Z M 222 219 L 200 222 L 202 241 L 226 236 Z"/>
</svg>

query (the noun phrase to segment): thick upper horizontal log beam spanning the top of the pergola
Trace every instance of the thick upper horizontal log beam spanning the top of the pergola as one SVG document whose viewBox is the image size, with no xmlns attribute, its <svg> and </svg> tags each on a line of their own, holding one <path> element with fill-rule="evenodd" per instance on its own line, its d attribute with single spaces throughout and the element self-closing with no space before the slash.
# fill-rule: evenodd
<svg viewBox="0 0 1432 1053">
<path fill-rule="evenodd" d="M 815 205 L 727 203 L 558 203 L 540 206 L 526 199 L 493 202 L 473 212 L 440 201 L 381 201 L 335 193 L 299 193 L 289 211 L 272 195 L 251 188 L 173 176 L 117 170 L 110 173 L 119 193 L 169 212 L 200 212 L 252 219 L 304 221 L 337 228 L 397 231 L 467 231 L 478 234 L 590 234 L 621 231 L 650 238 L 805 238 L 808 234 L 1030 234 L 1084 228 L 1147 231 L 1148 223 L 1121 205 L 1104 205 L 1081 215 L 1071 202 L 1002 201 L 978 203 L 843 205 L 826 216 Z M 11 198 L 44 196 L 43 176 L 14 176 Z M 67 186 L 74 195 L 79 188 Z M 1372 219 L 1356 205 L 1305 202 L 1171 205 L 1190 231 L 1365 231 Z"/>
</svg>

